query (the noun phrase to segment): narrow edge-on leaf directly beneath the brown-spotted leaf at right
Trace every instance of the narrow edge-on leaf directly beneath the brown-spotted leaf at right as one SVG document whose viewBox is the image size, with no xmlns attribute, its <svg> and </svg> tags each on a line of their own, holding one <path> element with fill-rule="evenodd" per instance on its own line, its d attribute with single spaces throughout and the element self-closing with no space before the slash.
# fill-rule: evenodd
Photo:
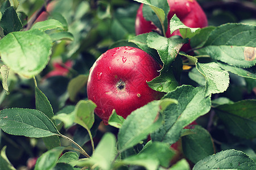
<svg viewBox="0 0 256 170">
<path fill-rule="evenodd" d="M 230 71 L 231 73 L 246 77 L 256 79 L 256 67 L 251 67 L 247 69 L 242 69 L 234 66 L 227 65 L 222 62 L 217 62 L 217 64 L 224 70 Z"/>
</svg>

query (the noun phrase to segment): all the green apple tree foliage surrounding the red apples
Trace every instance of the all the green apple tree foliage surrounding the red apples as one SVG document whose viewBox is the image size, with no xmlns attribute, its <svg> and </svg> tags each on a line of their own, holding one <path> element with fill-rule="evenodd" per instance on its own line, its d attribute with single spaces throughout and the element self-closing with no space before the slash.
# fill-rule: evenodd
<svg viewBox="0 0 256 170">
<path fill-rule="evenodd" d="M 1 0 L 0 169 L 256 169 L 256 5 L 220 2 L 199 1 L 209 27 L 174 15 L 167 38 L 165 0 Z M 158 33 L 135 36 L 140 3 Z M 166 95 L 105 126 L 86 82 L 115 46 L 162 65 L 147 83 Z"/>
</svg>

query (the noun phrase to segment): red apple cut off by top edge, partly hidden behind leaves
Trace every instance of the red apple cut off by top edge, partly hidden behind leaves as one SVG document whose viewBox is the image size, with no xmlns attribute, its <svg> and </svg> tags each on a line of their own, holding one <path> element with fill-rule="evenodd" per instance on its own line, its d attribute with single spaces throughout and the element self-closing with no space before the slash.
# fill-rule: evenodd
<svg viewBox="0 0 256 170">
<path fill-rule="evenodd" d="M 170 12 L 168 13 L 167 19 L 170 21 L 174 14 L 180 19 L 180 21 L 191 28 L 203 28 L 207 27 L 208 21 L 203 9 L 195 0 L 167 0 L 170 6 Z M 152 30 L 157 31 L 158 28 L 151 22 L 147 21 L 143 17 L 143 4 L 139 6 L 135 21 L 135 32 L 136 35 L 141 33 L 151 32 Z M 169 24 L 169 23 L 168 23 Z M 180 35 L 179 30 L 174 33 L 170 33 L 170 25 L 166 31 L 166 37 L 171 37 L 174 35 Z M 183 45 L 181 50 L 187 51 L 190 49 L 189 44 Z"/>
</svg>

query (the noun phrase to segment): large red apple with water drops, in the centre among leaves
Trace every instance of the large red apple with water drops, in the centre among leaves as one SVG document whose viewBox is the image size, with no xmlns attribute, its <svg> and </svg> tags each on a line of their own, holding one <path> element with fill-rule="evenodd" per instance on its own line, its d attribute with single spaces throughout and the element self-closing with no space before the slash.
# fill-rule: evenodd
<svg viewBox="0 0 256 170">
<path fill-rule="evenodd" d="M 105 125 L 113 109 L 126 118 L 132 111 L 164 93 L 152 90 L 147 82 L 159 76 L 159 64 L 146 52 L 130 46 L 109 49 L 90 69 L 87 95 L 94 112 Z"/>
</svg>

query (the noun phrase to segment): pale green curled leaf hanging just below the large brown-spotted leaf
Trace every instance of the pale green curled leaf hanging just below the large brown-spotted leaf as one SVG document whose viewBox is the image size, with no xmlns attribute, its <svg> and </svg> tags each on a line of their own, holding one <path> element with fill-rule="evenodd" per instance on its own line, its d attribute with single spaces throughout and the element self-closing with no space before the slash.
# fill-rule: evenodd
<svg viewBox="0 0 256 170">
<path fill-rule="evenodd" d="M 229 73 L 217 63 L 197 62 L 196 69 L 205 77 L 205 96 L 222 93 L 229 87 Z"/>
</svg>

